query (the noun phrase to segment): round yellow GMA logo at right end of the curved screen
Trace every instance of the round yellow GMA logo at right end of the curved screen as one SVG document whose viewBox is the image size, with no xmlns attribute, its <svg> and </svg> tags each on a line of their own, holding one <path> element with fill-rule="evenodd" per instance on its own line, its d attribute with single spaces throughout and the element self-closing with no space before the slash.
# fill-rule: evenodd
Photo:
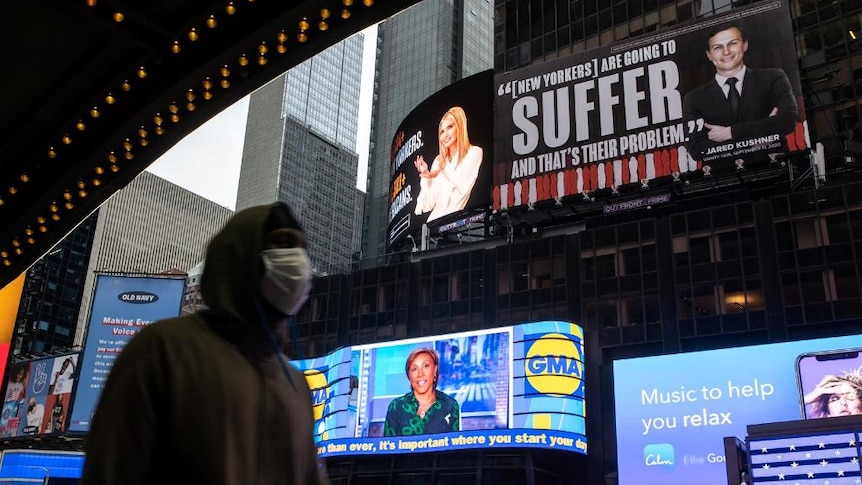
<svg viewBox="0 0 862 485">
<path fill-rule="evenodd" d="M 567 335 L 546 333 L 527 350 L 524 373 L 528 394 L 571 396 L 583 382 L 581 346 Z"/>
</svg>

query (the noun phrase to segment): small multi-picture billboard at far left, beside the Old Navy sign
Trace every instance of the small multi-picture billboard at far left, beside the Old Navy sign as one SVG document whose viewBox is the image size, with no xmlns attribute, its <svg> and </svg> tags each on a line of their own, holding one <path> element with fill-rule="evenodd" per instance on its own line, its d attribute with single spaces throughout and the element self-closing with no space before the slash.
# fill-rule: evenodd
<svg viewBox="0 0 862 485">
<path fill-rule="evenodd" d="M 0 414 L 0 437 L 65 432 L 77 369 L 77 353 L 12 364 Z"/>
</svg>

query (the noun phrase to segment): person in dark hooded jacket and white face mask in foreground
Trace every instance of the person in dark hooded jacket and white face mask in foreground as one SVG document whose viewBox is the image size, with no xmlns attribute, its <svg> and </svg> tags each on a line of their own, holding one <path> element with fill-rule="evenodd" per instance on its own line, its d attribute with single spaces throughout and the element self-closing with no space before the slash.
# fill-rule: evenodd
<svg viewBox="0 0 862 485">
<path fill-rule="evenodd" d="M 154 322 L 117 357 L 82 484 L 328 483 L 308 384 L 281 351 L 311 288 L 305 244 L 283 203 L 234 214 L 207 247 L 208 309 Z"/>
</svg>

